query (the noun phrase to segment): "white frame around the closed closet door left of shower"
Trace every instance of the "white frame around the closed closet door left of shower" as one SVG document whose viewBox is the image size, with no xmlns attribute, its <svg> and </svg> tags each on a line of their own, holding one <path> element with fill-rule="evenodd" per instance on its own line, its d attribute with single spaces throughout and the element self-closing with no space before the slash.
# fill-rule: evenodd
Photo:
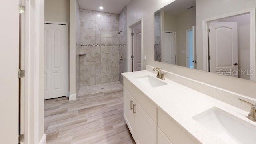
<svg viewBox="0 0 256 144">
<path fill-rule="evenodd" d="M 65 51 L 65 63 L 66 63 L 66 68 L 65 68 L 65 77 L 66 77 L 66 97 L 68 97 L 69 96 L 69 90 L 68 90 L 68 87 L 69 87 L 69 70 L 68 70 L 68 64 L 69 64 L 69 62 L 68 62 L 68 59 L 69 59 L 69 54 L 68 54 L 68 49 L 69 49 L 69 46 L 68 46 L 68 38 L 69 38 L 69 33 L 68 33 L 68 28 L 69 28 L 69 26 L 68 26 L 68 22 L 53 22 L 53 21 L 45 21 L 44 22 L 44 24 L 60 24 L 60 25 L 66 25 L 65 27 L 66 27 L 66 32 L 67 32 L 67 36 L 66 36 L 66 51 Z"/>
</svg>

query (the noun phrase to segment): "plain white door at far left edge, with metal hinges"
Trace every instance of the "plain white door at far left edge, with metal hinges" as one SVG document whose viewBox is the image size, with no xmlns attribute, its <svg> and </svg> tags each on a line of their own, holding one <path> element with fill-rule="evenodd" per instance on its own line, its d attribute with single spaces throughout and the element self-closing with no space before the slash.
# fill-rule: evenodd
<svg viewBox="0 0 256 144">
<path fill-rule="evenodd" d="M 19 12 L 18 0 L 4 1 L 0 8 L 0 140 L 18 144 L 19 127 Z"/>
</svg>

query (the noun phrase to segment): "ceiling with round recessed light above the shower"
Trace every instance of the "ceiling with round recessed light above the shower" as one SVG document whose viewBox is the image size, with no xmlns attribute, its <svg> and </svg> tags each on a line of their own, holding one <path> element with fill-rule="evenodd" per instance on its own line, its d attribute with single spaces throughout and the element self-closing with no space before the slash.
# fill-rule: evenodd
<svg viewBox="0 0 256 144">
<path fill-rule="evenodd" d="M 120 12 L 129 2 L 130 0 L 78 0 L 78 4 L 82 9 L 109 12 L 114 14 L 120 14 Z M 100 10 L 100 6 L 103 6 L 104 9 Z"/>
</svg>

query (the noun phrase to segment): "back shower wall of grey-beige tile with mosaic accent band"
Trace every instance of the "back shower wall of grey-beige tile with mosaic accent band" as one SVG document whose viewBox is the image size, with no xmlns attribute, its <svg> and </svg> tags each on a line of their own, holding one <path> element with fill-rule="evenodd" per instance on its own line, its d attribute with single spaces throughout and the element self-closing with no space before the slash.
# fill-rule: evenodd
<svg viewBox="0 0 256 144">
<path fill-rule="evenodd" d="M 80 9 L 80 86 L 119 79 L 119 15 Z"/>
</svg>

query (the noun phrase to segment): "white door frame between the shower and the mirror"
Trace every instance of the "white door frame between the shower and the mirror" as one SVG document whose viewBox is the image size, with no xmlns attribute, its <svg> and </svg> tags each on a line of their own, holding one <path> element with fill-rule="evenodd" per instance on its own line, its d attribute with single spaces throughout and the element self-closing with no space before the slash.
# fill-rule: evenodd
<svg viewBox="0 0 256 144">
<path fill-rule="evenodd" d="M 132 72 L 132 27 L 141 24 L 141 70 L 143 70 L 143 17 L 135 20 L 127 26 L 127 72 Z"/>
</svg>

